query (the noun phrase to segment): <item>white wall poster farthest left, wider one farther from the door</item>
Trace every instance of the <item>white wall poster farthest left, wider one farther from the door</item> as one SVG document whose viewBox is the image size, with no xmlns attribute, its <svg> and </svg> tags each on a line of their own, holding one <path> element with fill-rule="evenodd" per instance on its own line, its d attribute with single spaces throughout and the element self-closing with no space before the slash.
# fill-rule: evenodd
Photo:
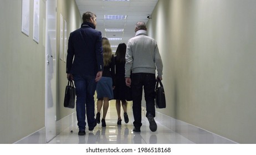
<svg viewBox="0 0 256 155">
<path fill-rule="evenodd" d="M 22 0 L 22 32 L 29 36 L 29 0 Z"/>
</svg>

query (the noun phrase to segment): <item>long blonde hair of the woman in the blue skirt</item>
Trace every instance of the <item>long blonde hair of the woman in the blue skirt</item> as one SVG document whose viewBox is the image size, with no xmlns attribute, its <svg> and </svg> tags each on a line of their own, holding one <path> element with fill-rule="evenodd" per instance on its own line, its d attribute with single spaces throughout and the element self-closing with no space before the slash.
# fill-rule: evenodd
<svg viewBox="0 0 256 155">
<path fill-rule="evenodd" d="M 112 57 L 112 49 L 109 43 L 109 39 L 103 37 L 102 38 L 102 45 L 103 45 L 103 62 L 104 66 L 108 66 L 111 62 Z"/>
</svg>

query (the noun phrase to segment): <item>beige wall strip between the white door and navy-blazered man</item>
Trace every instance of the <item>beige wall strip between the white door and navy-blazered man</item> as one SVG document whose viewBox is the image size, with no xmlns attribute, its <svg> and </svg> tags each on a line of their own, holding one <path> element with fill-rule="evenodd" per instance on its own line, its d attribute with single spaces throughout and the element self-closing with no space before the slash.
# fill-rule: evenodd
<svg viewBox="0 0 256 155">
<path fill-rule="evenodd" d="M 60 14 L 67 23 L 67 44 L 70 32 L 80 28 L 83 23 L 78 7 L 76 6 L 75 0 L 57 0 L 57 38 L 60 36 Z M 64 49 L 64 47 L 63 47 Z M 57 39 L 57 58 L 59 58 L 60 40 Z M 57 71 L 57 120 L 70 115 L 75 111 L 74 109 L 65 108 L 63 106 L 65 87 L 68 84 L 66 79 L 66 63 L 64 60 L 58 59 L 58 71 Z"/>
</svg>

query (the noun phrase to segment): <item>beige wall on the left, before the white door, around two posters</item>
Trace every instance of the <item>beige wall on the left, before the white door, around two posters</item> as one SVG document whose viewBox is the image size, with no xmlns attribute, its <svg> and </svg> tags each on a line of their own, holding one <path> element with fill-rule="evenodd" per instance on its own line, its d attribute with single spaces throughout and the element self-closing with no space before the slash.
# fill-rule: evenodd
<svg viewBox="0 0 256 155">
<path fill-rule="evenodd" d="M 44 127 L 45 34 L 33 40 L 33 1 L 30 1 L 29 36 L 21 32 L 22 1 L 0 5 L 0 143 L 13 143 Z M 45 2 L 40 1 L 40 25 Z M 45 38 L 45 37 L 44 37 Z"/>
</svg>

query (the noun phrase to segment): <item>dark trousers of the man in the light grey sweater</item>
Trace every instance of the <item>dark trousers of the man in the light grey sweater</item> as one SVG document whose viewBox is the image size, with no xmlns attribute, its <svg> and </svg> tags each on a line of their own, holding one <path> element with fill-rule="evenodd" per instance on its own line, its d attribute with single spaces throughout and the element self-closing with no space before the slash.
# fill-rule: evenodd
<svg viewBox="0 0 256 155">
<path fill-rule="evenodd" d="M 146 117 L 151 114 L 156 115 L 155 110 L 155 86 L 156 75 L 150 73 L 132 73 L 131 90 L 132 90 L 132 111 L 134 113 L 134 127 L 140 129 L 141 123 L 141 100 L 142 89 L 144 89 L 146 101 Z"/>
</svg>

